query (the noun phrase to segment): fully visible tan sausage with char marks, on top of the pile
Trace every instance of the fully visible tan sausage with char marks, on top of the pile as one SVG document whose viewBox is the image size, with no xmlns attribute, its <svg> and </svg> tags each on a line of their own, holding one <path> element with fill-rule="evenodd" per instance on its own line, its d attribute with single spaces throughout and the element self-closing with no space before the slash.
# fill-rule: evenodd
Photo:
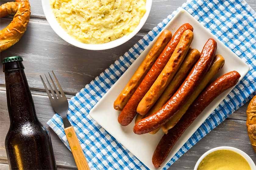
<svg viewBox="0 0 256 170">
<path fill-rule="evenodd" d="M 140 101 L 137 107 L 137 113 L 141 115 L 147 114 L 151 107 L 158 100 L 160 95 L 163 93 L 165 88 L 176 74 L 177 70 L 180 68 L 181 63 L 187 55 L 193 38 L 194 34 L 191 30 L 188 29 L 183 33 L 182 37 L 180 38 L 180 42 L 176 46 L 168 63 L 165 65 L 164 69 L 159 74 L 154 84 L 150 87 L 148 92 Z"/>
</svg>

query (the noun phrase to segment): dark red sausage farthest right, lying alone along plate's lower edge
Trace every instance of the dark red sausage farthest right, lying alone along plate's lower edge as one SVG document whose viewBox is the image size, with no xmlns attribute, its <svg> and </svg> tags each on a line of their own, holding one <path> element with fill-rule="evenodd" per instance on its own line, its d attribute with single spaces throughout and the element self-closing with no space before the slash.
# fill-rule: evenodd
<svg viewBox="0 0 256 170">
<path fill-rule="evenodd" d="M 152 156 L 152 163 L 156 168 L 159 168 L 180 136 L 190 124 L 193 123 L 197 116 L 202 113 L 205 107 L 207 107 L 222 92 L 236 85 L 239 78 L 240 74 L 238 72 L 231 71 L 222 75 L 204 89 L 180 121 L 169 130 L 168 134 L 164 134 L 159 141 Z"/>
</svg>

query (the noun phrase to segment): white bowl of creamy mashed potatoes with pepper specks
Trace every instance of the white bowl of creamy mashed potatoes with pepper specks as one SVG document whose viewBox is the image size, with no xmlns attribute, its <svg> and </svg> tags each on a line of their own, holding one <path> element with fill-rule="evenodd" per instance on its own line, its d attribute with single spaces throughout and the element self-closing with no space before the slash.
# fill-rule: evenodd
<svg viewBox="0 0 256 170">
<path fill-rule="evenodd" d="M 119 46 L 139 32 L 152 0 L 42 0 L 45 17 L 66 42 L 90 50 Z"/>
</svg>

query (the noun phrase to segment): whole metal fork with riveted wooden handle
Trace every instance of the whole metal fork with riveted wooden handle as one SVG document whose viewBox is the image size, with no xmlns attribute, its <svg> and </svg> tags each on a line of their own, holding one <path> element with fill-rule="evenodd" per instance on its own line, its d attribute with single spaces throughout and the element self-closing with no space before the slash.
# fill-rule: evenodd
<svg viewBox="0 0 256 170">
<path fill-rule="evenodd" d="M 53 81 L 49 72 L 48 72 L 48 74 L 49 74 L 49 77 L 51 79 L 52 85 L 55 89 L 55 92 L 56 92 L 57 96 L 55 95 L 55 93 L 52 89 L 52 86 L 51 86 L 50 82 L 48 81 L 46 75 L 44 74 L 45 79 L 46 79 L 46 81 L 49 85 L 49 88 L 51 90 L 52 95 L 50 94 L 50 91 L 48 90 L 48 87 L 44 83 L 44 80 L 43 80 L 42 76 L 40 76 L 40 78 L 41 78 L 41 80 L 44 84 L 44 88 L 45 88 L 46 93 L 47 93 L 47 95 L 50 99 L 53 110 L 62 117 L 63 124 L 64 124 L 64 131 L 66 133 L 67 140 L 69 142 L 69 146 L 71 148 L 73 157 L 75 159 L 76 166 L 77 166 L 78 170 L 90 169 L 89 165 L 86 161 L 86 158 L 84 157 L 84 152 L 83 152 L 83 150 L 81 148 L 81 145 L 78 141 L 78 138 L 76 136 L 76 132 L 74 130 L 74 127 L 71 126 L 71 124 L 70 124 L 70 122 L 67 118 L 67 111 L 69 109 L 69 103 L 68 103 L 68 100 L 66 98 L 66 95 L 64 94 L 64 91 L 62 90 L 62 87 L 60 86 L 60 83 L 59 83 L 57 77 L 55 76 L 54 72 L 52 71 L 52 74 L 53 74 L 53 77 L 54 77 L 58 87 L 59 87 L 59 90 L 57 89 L 57 87 L 56 87 L 56 85 L 55 85 L 55 83 L 54 83 L 54 81 Z M 59 94 L 59 91 L 60 91 L 61 95 Z M 52 96 L 53 96 L 53 98 L 52 98 Z"/>
</svg>

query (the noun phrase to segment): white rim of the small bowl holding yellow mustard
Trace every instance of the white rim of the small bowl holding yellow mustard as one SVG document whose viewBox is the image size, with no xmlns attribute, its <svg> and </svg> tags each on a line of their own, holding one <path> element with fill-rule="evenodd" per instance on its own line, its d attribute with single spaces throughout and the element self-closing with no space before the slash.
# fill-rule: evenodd
<svg viewBox="0 0 256 170">
<path fill-rule="evenodd" d="M 234 147 L 229 147 L 229 146 L 220 146 L 220 147 L 216 147 L 216 148 L 212 148 L 209 151 L 205 152 L 197 161 L 194 170 L 197 170 L 200 162 L 210 153 L 214 152 L 214 151 L 218 151 L 218 150 L 230 150 L 230 151 L 234 151 L 238 154 L 240 154 L 241 156 L 244 157 L 244 159 L 249 163 L 251 170 L 256 170 L 256 165 L 254 164 L 254 161 L 251 159 L 251 157 L 249 155 L 247 155 L 244 151 L 241 151 L 240 149 L 234 148 Z"/>
</svg>

